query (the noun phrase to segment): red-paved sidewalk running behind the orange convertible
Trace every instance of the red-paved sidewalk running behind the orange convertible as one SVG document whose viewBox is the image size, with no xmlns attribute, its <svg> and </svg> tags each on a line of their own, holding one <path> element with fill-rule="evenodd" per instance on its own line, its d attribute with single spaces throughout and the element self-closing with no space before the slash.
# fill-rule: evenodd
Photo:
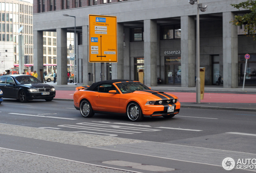
<svg viewBox="0 0 256 173">
<path fill-rule="evenodd" d="M 83 84 L 75 85 L 74 83 L 68 83 L 67 85 L 50 84 L 63 89 L 56 89 L 56 97 L 54 99 L 66 101 L 73 101 L 75 88 L 83 86 Z M 66 87 L 72 87 L 74 91 L 65 91 Z M 185 88 L 176 85 L 158 85 L 157 87 L 151 87 L 151 89 L 176 95 L 179 98 L 181 107 L 185 108 L 256 111 L 255 86 L 245 86 L 244 90 L 242 90 L 242 86 L 236 89 L 226 89 L 223 86 L 205 86 L 204 99 L 201 100 L 201 103 L 196 103 L 195 87 Z"/>
</svg>

